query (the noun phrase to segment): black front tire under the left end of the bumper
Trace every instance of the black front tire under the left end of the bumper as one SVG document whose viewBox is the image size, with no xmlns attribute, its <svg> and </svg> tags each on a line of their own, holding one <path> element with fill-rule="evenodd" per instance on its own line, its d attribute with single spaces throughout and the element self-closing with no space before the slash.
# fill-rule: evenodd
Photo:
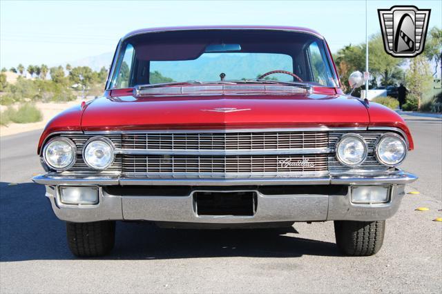
<svg viewBox="0 0 442 294">
<path fill-rule="evenodd" d="M 115 244 L 115 222 L 66 223 L 70 251 L 78 257 L 110 253 Z"/>
</svg>

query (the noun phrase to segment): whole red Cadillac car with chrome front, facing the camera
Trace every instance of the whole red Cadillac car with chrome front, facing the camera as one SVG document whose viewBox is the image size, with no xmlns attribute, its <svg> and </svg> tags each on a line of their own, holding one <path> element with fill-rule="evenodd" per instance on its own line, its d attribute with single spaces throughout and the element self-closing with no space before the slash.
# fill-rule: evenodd
<svg viewBox="0 0 442 294">
<path fill-rule="evenodd" d="M 46 126 L 33 180 L 81 257 L 112 250 L 115 221 L 334 221 L 340 251 L 373 255 L 416 180 L 397 167 L 412 149 L 400 116 L 343 93 L 314 30 L 154 28 L 119 41 L 103 97 Z"/>
</svg>

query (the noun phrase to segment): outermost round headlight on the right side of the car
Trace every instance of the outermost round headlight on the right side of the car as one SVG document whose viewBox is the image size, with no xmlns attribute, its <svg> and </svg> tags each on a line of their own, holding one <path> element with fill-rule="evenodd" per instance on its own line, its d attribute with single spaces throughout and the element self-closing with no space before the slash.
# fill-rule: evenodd
<svg viewBox="0 0 442 294">
<path fill-rule="evenodd" d="M 376 158 L 386 166 L 401 164 L 407 155 L 407 144 L 401 136 L 387 133 L 379 139 L 376 146 Z"/>
</svg>

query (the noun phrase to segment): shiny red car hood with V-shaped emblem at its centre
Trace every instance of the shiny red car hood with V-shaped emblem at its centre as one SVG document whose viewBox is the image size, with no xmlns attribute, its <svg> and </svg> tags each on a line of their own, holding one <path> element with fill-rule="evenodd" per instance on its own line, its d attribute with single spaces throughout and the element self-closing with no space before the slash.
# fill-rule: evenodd
<svg viewBox="0 0 442 294">
<path fill-rule="evenodd" d="M 86 106 L 81 129 L 179 130 L 367 126 L 367 109 L 345 95 L 102 97 Z"/>
</svg>

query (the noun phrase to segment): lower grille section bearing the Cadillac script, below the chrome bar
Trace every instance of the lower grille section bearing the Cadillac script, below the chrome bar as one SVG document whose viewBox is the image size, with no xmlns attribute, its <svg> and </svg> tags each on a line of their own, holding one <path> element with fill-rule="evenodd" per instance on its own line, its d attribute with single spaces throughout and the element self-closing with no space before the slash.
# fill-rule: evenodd
<svg viewBox="0 0 442 294">
<path fill-rule="evenodd" d="M 182 156 L 124 155 L 123 173 L 318 173 L 327 172 L 327 155 Z"/>
</svg>

